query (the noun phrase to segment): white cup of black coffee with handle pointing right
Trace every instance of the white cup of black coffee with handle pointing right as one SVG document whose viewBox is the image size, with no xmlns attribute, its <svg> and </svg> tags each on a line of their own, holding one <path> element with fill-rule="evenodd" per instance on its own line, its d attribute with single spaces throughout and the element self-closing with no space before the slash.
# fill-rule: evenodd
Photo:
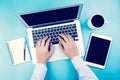
<svg viewBox="0 0 120 80">
<path fill-rule="evenodd" d="M 102 28 L 105 24 L 109 22 L 105 20 L 105 18 L 100 14 L 95 14 L 88 20 L 88 26 L 91 29 L 99 29 Z"/>
</svg>

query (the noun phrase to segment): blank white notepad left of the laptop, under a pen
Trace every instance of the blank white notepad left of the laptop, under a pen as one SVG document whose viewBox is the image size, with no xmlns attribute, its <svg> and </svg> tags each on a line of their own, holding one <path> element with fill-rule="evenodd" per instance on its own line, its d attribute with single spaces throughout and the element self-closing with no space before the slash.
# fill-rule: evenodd
<svg viewBox="0 0 120 80">
<path fill-rule="evenodd" d="M 26 45 L 25 38 L 19 38 L 16 40 L 8 41 L 8 47 L 10 50 L 10 55 L 13 64 L 19 64 L 26 61 L 30 61 L 30 55 L 28 52 L 28 47 L 26 45 L 24 54 L 24 47 Z M 25 59 L 24 59 L 25 56 Z"/>
</svg>

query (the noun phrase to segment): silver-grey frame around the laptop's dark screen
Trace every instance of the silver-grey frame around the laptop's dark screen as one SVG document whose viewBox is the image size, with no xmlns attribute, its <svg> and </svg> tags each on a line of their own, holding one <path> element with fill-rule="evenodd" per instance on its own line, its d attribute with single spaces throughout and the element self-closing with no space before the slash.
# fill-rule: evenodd
<svg viewBox="0 0 120 80">
<path fill-rule="evenodd" d="M 80 15 L 81 15 L 81 11 L 82 11 L 83 4 L 76 4 L 76 5 L 58 7 L 58 8 L 47 9 L 47 10 L 41 10 L 41 11 L 36 11 L 36 12 L 21 13 L 21 14 L 17 14 L 17 17 L 25 24 L 26 27 L 40 26 L 39 24 L 29 26 L 29 25 L 24 21 L 24 19 L 23 19 L 21 16 L 22 16 L 22 15 L 27 15 L 27 14 L 33 14 L 33 13 L 37 13 L 37 12 L 44 12 L 44 11 L 50 11 L 50 10 L 56 10 L 56 9 L 62 9 L 62 8 L 75 7 L 75 6 L 78 6 L 78 7 L 79 7 L 78 13 L 77 13 L 77 17 L 76 17 L 76 18 L 69 19 L 69 20 L 63 20 L 63 21 L 58 21 L 58 22 L 67 22 L 67 21 L 72 21 L 72 20 L 78 20 L 79 17 L 80 17 Z M 52 23 L 56 23 L 56 22 L 52 22 Z M 45 24 L 47 24 L 47 23 L 45 23 Z"/>
</svg>

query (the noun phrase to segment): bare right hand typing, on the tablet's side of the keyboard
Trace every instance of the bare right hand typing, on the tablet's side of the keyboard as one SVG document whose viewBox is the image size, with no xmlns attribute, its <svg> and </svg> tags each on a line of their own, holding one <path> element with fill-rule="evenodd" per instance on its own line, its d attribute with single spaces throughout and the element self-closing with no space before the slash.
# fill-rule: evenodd
<svg viewBox="0 0 120 80">
<path fill-rule="evenodd" d="M 61 34 L 58 36 L 58 39 L 60 41 L 59 47 L 66 56 L 68 56 L 70 59 L 78 56 L 79 53 L 77 46 L 70 35 Z"/>
</svg>

